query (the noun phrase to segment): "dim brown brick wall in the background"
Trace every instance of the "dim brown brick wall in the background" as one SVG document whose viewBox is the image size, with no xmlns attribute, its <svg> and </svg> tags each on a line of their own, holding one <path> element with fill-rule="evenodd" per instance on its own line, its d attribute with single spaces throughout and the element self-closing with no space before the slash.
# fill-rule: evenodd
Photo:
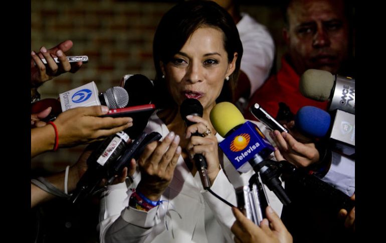
<svg viewBox="0 0 386 243">
<path fill-rule="evenodd" d="M 162 1 L 32 0 L 31 50 L 38 52 L 41 46 L 51 48 L 70 39 L 74 46 L 67 55 L 87 55 L 90 59 L 76 74 L 63 74 L 39 88 L 42 98 L 58 97 L 91 81 L 99 91 L 105 91 L 118 85 L 124 74 L 141 73 L 153 78 L 153 35 L 160 18 L 173 5 Z M 241 10 L 268 27 L 281 56 L 279 9 L 248 4 Z M 76 162 L 83 148 L 45 153 L 34 158 L 31 167 L 61 171 Z"/>
</svg>

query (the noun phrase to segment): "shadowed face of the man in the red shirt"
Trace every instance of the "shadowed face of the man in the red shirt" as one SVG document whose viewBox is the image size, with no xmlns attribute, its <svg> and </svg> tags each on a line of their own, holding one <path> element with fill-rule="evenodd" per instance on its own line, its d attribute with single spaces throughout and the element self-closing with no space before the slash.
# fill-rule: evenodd
<svg viewBox="0 0 386 243">
<path fill-rule="evenodd" d="M 295 71 L 320 69 L 336 74 L 347 58 L 348 27 L 341 1 L 300 0 L 287 10 L 284 39 Z"/>
</svg>

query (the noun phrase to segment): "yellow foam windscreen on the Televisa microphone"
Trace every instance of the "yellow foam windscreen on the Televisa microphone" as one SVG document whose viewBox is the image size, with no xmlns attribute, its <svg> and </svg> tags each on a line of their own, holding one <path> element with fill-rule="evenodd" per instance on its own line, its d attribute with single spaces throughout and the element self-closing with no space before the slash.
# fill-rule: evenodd
<svg viewBox="0 0 386 243">
<path fill-rule="evenodd" d="M 222 137 L 226 137 L 232 129 L 245 123 L 240 110 L 230 102 L 221 102 L 213 107 L 210 119 L 213 127 Z"/>
</svg>

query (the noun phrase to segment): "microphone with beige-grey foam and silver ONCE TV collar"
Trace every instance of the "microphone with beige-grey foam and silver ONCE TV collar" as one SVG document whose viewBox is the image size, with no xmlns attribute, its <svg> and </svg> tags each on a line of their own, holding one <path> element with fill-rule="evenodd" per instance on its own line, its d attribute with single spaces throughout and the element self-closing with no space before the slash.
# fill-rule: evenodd
<svg viewBox="0 0 386 243">
<path fill-rule="evenodd" d="M 329 110 L 355 114 L 355 79 L 308 69 L 300 77 L 300 93 L 312 100 L 329 102 Z"/>
</svg>

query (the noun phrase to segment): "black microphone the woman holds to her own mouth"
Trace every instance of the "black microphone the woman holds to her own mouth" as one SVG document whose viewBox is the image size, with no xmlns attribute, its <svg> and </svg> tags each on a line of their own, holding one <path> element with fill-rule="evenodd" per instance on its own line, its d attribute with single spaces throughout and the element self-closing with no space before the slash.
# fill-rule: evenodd
<svg viewBox="0 0 386 243">
<path fill-rule="evenodd" d="M 195 122 L 191 122 L 186 119 L 187 115 L 194 115 L 194 116 L 200 116 L 203 117 L 203 105 L 201 105 L 200 101 L 196 99 L 185 99 L 181 107 L 179 108 L 179 112 L 181 114 L 182 119 L 185 121 L 186 127 L 191 126 L 192 124 L 195 124 Z M 192 136 L 201 136 L 204 137 L 203 134 L 200 134 L 199 132 L 195 132 L 192 134 Z M 211 187 L 211 182 L 208 178 L 207 173 L 207 160 L 205 159 L 204 155 L 202 154 L 195 154 L 194 156 L 195 164 L 197 167 L 197 170 L 200 173 L 201 182 L 203 183 L 203 187 L 205 189 Z"/>
</svg>

